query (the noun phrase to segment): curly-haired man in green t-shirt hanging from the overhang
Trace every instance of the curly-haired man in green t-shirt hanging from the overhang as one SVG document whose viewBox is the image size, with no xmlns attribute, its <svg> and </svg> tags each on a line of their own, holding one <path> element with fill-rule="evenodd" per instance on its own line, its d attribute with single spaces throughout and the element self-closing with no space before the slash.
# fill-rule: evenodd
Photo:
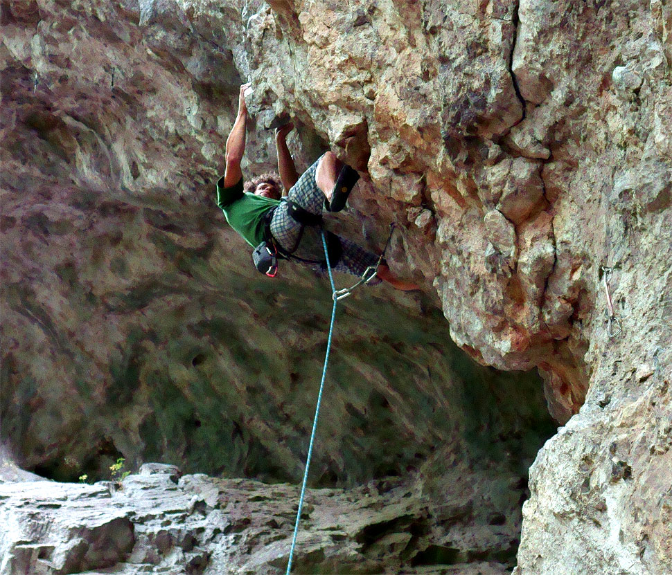
<svg viewBox="0 0 672 575">
<path fill-rule="evenodd" d="M 331 212 L 342 210 L 360 176 L 332 152 L 326 152 L 299 176 L 286 141 L 294 127 L 290 122 L 276 129 L 279 174 L 263 174 L 243 185 L 240 161 L 245 154 L 248 87 L 249 84 L 240 86 L 238 116 L 227 138 L 226 168 L 217 182 L 217 205 L 231 227 L 248 244 L 257 246 L 256 253 L 265 250 L 273 255 L 276 250 L 287 259 L 314 269 L 324 268 L 320 227 L 323 207 Z M 281 201 L 283 197 L 285 201 Z M 330 232 L 327 236 L 329 262 L 335 271 L 362 276 L 378 263 L 377 255 L 353 241 Z M 256 259 L 255 263 L 260 271 L 266 271 L 265 264 L 262 269 Z M 394 277 L 384 260 L 367 283 L 377 284 L 380 280 L 403 291 L 418 289 L 416 284 Z"/>
</svg>

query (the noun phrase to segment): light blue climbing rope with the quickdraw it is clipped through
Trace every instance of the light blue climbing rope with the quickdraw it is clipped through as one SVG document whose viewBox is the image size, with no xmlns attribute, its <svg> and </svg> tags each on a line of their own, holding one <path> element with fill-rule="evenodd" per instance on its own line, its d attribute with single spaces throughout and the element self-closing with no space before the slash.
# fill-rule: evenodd
<svg viewBox="0 0 672 575">
<path fill-rule="evenodd" d="M 303 483 L 301 484 L 301 495 L 299 496 L 299 510 L 297 511 L 297 521 L 294 523 L 294 535 L 292 536 L 292 547 L 290 548 L 290 558 L 287 563 L 287 572 L 285 573 L 285 575 L 290 575 L 290 572 L 292 571 L 292 558 L 294 556 L 294 549 L 297 546 L 299 522 L 301 521 L 301 509 L 303 509 L 303 498 L 306 495 L 306 483 L 308 482 L 308 468 L 310 468 L 310 458 L 312 457 L 312 445 L 315 441 L 315 431 L 317 430 L 317 418 L 319 417 L 319 406 L 322 401 L 322 391 L 324 390 L 324 378 L 327 372 L 327 364 L 329 362 L 329 352 L 331 349 L 331 337 L 334 331 L 334 320 L 336 318 L 336 304 L 338 303 L 338 300 L 342 300 L 343 298 L 347 298 L 348 295 L 351 295 L 353 289 L 355 289 L 357 286 L 360 286 L 362 284 L 368 284 L 369 282 L 371 282 L 371 280 L 373 280 L 376 271 L 378 271 L 378 266 L 380 266 L 380 262 L 382 262 L 385 252 L 387 251 L 387 246 L 389 246 L 389 242 L 392 238 L 392 232 L 394 231 L 394 222 L 390 224 L 389 228 L 390 228 L 389 236 L 387 237 L 387 242 L 385 242 L 385 246 L 382 249 L 380 257 L 378 257 L 378 262 L 376 262 L 375 266 L 369 266 L 368 268 L 366 268 L 366 271 L 364 271 L 362 279 L 359 282 L 357 282 L 351 288 L 347 288 L 344 290 L 343 289 L 337 290 L 336 286 L 334 285 L 334 277 L 333 274 L 331 273 L 332 264 L 330 263 L 331 258 L 329 254 L 329 248 L 327 247 L 327 240 L 325 237 L 324 229 L 320 230 L 322 236 L 322 247 L 324 248 L 324 257 L 326 260 L 327 271 L 329 273 L 329 282 L 331 284 L 332 300 L 334 302 L 334 305 L 331 309 L 331 323 L 329 325 L 329 337 L 327 339 L 327 351 L 326 356 L 324 358 L 324 368 L 322 369 L 322 380 L 319 383 L 319 392 L 317 394 L 317 407 L 315 408 L 315 419 L 313 419 L 312 421 L 312 432 L 310 433 L 310 443 L 308 444 L 308 457 L 306 457 L 306 470 L 303 471 Z"/>
</svg>

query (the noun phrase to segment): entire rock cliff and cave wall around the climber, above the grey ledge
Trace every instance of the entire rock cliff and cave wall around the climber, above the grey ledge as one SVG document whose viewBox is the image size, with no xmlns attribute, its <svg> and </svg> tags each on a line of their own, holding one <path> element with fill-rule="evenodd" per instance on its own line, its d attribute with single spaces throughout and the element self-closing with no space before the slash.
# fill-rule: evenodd
<svg viewBox="0 0 672 575">
<path fill-rule="evenodd" d="M 363 175 L 331 225 L 380 248 L 394 221 L 387 258 L 423 284 L 345 308 L 315 481 L 360 497 L 394 474 L 432 509 L 483 486 L 469 529 L 436 511 L 412 557 L 509 562 L 541 384 L 459 358 L 450 331 L 481 364 L 536 367 L 564 425 L 531 467 L 515 572 L 672 570 L 669 1 L 21 0 L 2 19 L 2 439 L 21 466 L 297 482 L 330 294 L 254 277 L 213 207 L 251 80 L 245 170 L 273 165 L 264 128 L 291 116 L 301 167 L 330 148 Z M 399 529 L 393 569 L 413 560 Z"/>
</svg>

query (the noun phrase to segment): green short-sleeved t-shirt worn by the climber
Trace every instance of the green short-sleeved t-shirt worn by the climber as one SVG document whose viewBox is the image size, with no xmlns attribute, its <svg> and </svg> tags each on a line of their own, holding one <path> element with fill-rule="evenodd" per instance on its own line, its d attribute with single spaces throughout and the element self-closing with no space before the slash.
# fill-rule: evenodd
<svg viewBox="0 0 672 575">
<path fill-rule="evenodd" d="M 264 215 L 278 203 L 280 200 L 244 192 L 242 178 L 230 188 L 224 188 L 224 176 L 217 181 L 217 205 L 222 208 L 229 226 L 252 247 L 264 241 Z"/>
</svg>

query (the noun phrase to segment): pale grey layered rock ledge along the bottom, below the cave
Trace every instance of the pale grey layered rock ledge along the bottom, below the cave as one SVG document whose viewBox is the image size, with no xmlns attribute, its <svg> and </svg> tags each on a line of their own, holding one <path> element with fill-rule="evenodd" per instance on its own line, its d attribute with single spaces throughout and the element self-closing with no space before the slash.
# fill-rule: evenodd
<svg viewBox="0 0 672 575">
<path fill-rule="evenodd" d="M 298 497 L 297 486 L 182 476 L 161 464 L 145 464 L 121 482 L 0 484 L 0 573 L 281 574 Z M 452 511 L 468 515 L 463 506 Z M 309 490 L 292 572 L 509 572 L 495 560 L 475 560 L 486 558 L 482 550 L 441 545 L 442 514 L 417 482 Z M 491 528 L 498 530 L 506 527 Z"/>
</svg>

